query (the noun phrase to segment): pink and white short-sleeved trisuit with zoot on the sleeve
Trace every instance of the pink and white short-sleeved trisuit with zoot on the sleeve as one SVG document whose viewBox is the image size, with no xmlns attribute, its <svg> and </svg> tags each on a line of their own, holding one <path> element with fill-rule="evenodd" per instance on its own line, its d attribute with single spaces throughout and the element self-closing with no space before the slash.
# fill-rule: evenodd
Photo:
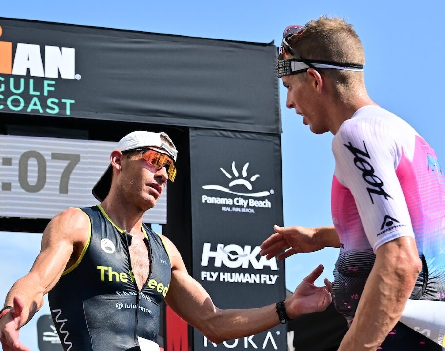
<svg viewBox="0 0 445 351">
<path fill-rule="evenodd" d="M 423 263 L 410 298 L 445 300 L 445 176 L 434 150 L 401 118 L 364 106 L 341 125 L 332 151 L 337 310 L 354 317 L 376 250 L 402 236 L 415 238 Z"/>
</svg>

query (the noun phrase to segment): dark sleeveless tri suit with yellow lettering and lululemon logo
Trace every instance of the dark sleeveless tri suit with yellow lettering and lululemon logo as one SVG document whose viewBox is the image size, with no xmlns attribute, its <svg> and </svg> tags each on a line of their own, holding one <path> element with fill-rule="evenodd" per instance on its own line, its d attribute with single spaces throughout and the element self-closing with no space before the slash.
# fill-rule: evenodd
<svg viewBox="0 0 445 351">
<path fill-rule="evenodd" d="M 139 350 L 138 337 L 156 342 L 160 303 L 168 292 L 170 259 L 161 237 L 142 225 L 150 272 L 139 291 L 133 276 L 131 235 L 98 206 L 82 208 L 91 222 L 79 260 L 49 292 L 54 325 L 65 351 Z"/>
</svg>

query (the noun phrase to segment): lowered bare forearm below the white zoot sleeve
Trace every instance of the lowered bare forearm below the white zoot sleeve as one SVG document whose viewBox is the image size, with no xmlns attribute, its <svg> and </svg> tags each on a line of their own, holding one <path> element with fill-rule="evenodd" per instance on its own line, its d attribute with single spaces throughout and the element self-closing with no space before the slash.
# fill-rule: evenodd
<svg viewBox="0 0 445 351">
<path fill-rule="evenodd" d="M 376 350 L 399 320 L 422 265 L 417 256 L 392 249 L 377 254 L 339 351 Z"/>
</svg>

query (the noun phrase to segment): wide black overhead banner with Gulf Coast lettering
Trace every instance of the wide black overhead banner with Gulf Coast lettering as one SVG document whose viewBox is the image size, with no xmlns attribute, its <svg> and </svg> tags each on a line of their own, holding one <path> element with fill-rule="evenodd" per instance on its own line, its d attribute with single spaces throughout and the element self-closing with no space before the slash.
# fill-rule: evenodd
<svg viewBox="0 0 445 351">
<path fill-rule="evenodd" d="M 0 18 L 0 112 L 280 133 L 276 47 Z"/>
</svg>

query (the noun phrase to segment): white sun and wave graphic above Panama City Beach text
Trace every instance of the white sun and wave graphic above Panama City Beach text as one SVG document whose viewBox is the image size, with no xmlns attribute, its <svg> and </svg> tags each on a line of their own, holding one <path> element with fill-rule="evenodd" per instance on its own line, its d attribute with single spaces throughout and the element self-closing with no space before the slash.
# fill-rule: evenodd
<svg viewBox="0 0 445 351">
<path fill-rule="evenodd" d="M 247 196 L 252 196 L 252 197 L 263 197 L 263 196 L 267 196 L 270 194 L 273 194 L 274 191 L 270 190 L 270 191 L 261 191 L 261 192 L 257 192 L 257 193 L 241 193 L 241 192 L 235 192 L 230 190 L 231 187 L 235 186 L 235 185 L 243 185 L 247 188 L 247 190 L 252 191 L 253 187 L 252 187 L 252 183 L 257 180 L 257 178 L 260 177 L 259 174 L 256 174 L 254 176 L 248 177 L 247 176 L 247 168 L 249 167 L 249 162 L 247 162 L 243 169 L 241 170 L 241 176 L 238 172 L 238 170 L 235 167 L 235 161 L 232 162 L 232 173 L 233 176 L 227 172 L 225 169 L 223 169 L 222 167 L 220 168 L 220 170 L 223 172 L 223 174 L 228 178 L 228 179 L 233 179 L 229 182 L 229 187 L 225 188 L 221 185 L 216 185 L 216 184 L 209 184 L 209 185 L 203 185 L 202 188 L 206 189 L 206 190 L 220 190 L 223 191 L 225 193 L 230 193 L 230 194 L 236 194 L 236 195 L 247 195 Z"/>
</svg>

